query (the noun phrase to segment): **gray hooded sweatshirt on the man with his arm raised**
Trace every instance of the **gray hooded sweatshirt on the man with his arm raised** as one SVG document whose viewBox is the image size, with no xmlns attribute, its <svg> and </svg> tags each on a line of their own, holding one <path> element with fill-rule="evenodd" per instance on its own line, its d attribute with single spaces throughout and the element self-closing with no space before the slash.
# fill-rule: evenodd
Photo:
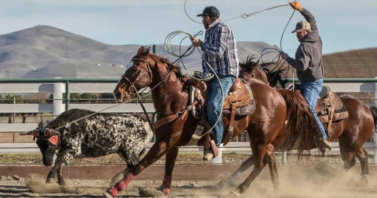
<svg viewBox="0 0 377 198">
<path fill-rule="evenodd" d="M 287 58 L 287 62 L 296 69 L 297 78 L 302 82 L 315 81 L 323 78 L 322 39 L 314 16 L 305 8 L 301 14 L 310 23 L 311 32 L 302 40 L 296 51 L 296 58 Z"/>
</svg>

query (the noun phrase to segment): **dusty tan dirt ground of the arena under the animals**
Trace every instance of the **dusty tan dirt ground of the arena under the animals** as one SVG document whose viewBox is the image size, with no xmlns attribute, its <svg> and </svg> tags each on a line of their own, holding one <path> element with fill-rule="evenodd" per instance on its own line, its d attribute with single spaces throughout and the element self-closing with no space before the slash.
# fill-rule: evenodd
<svg viewBox="0 0 377 198">
<path fill-rule="evenodd" d="M 340 177 L 340 170 L 334 170 L 331 164 L 308 171 L 279 172 L 280 191 L 273 192 L 269 177 L 258 177 L 249 190 L 240 197 L 376 197 L 377 179 L 369 178 L 369 183 L 360 181 L 358 175 L 360 167 Z M 267 169 L 267 170 L 266 170 Z M 198 170 L 200 171 L 200 170 Z M 268 167 L 265 170 L 268 172 Z M 250 170 L 246 174 L 250 173 Z M 242 175 L 246 177 L 247 175 Z M 265 174 L 267 175 L 267 174 Z M 375 176 L 375 175 L 371 175 Z M 224 176 L 225 177 L 225 176 Z M 29 178 L 11 176 L 0 177 L 0 197 L 2 198 L 78 198 L 78 197 L 104 197 L 102 192 L 107 188 L 108 180 L 66 180 L 67 186 L 57 184 L 45 184 L 42 177 L 31 175 Z M 162 178 L 161 178 L 162 179 Z M 205 198 L 205 197 L 234 197 L 229 192 L 233 187 L 222 189 L 214 188 L 218 181 L 174 181 L 172 191 L 165 197 Z M 239 182 L 239 184 L 241 181 Z M 161 185 L 156 181 L 132 181 L 119 197 L 159 197 L 155 189 Z M 142 193 L 141 192 L 147 192 Z"/>
</svg>

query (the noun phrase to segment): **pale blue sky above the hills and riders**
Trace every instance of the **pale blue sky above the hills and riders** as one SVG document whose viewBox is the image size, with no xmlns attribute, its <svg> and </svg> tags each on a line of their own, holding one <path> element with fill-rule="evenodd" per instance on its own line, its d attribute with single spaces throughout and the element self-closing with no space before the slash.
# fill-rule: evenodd
<svg viewBox="0 0 377 198">
<path fill-rule="evenodd" d="M 324 53 L 377 46 L 376 0 L 301 0 L 300 3 L 317 19 Z M 282 4 L 287 1 L 189 0 L 187 11 L 201 21 L 196 14 L 207 5 L 216 6 L 220 17 L 226 19 Z M 195 34 L 204 30 L 187 18 L 183 5 L 184 0 L 3 0 L 0 34 L 50 25 L 108 44 L 161 44 L 172 31 Z M 279 45 L 291 13 L 290 7 L 277 8 L 227 23 L 238 41 Z M 283 49 L 290 55 L 298 45 L 290 32 L 300 20 L 303 17 L 296 12 L 283 38 Z"/>
</svg>

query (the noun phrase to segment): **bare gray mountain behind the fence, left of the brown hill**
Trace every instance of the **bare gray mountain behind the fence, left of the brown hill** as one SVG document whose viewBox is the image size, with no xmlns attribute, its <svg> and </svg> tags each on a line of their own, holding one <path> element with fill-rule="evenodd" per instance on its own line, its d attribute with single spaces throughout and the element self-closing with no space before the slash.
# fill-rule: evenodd
<svg viewBox="0 0 377 198">
<path fill-rule="evenodd" d="M 239 42 L 240 59 L 248 54 L 261 54 L 270 48 L 264 42 Z M 108 45 L 51 26 L 35 26 L 0 35 L 0 77 L 8 68 L 14 78 L 117 78 L 141 45 Z M 171 46 L 179 53 L 179 46 Z M 157 54 L 174 61 L 164 45 Z M 182 49 L 187 49 L 184 46 Z M 273 55 L 266 56 L 266 59 Z M 184 58 L 190 72 L 201 70 L 201 55 L 195 51 Z M 117 67 L 118 66 L 118 67 Z M 119 67 L 120 66 L 120 67 Z"/>
</svg>

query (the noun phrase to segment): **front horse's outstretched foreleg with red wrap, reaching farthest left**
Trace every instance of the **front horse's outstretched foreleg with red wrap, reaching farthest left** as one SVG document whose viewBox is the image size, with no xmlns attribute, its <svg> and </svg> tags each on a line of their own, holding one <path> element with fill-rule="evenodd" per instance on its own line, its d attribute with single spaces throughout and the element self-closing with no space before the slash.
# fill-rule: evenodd
<svg viewBox="0 0 377 198">
<path fill-rule="evenodd" d="M 173 144 L 169 143 L 169 145 Z M 141 173 L 150 164 L 153 164 L 155 161 L 161 158 L 162 155 L 164 155 L 170 149 L 171 148 L 168 148 L 167 143 L 163 140 L 155 142 L 147 152 L 146 156 L 139 163 L 133 166 L 130 172 L 127 173 L 122 180 L 118 181 L 118 183 L 116 183 L 114 186 L 107 189 L 106 192 L 104 192 L 104 195 L 109 198 L 116 197 L 118 192 L 124 190 L 136 175 Z"/>
</svg>

